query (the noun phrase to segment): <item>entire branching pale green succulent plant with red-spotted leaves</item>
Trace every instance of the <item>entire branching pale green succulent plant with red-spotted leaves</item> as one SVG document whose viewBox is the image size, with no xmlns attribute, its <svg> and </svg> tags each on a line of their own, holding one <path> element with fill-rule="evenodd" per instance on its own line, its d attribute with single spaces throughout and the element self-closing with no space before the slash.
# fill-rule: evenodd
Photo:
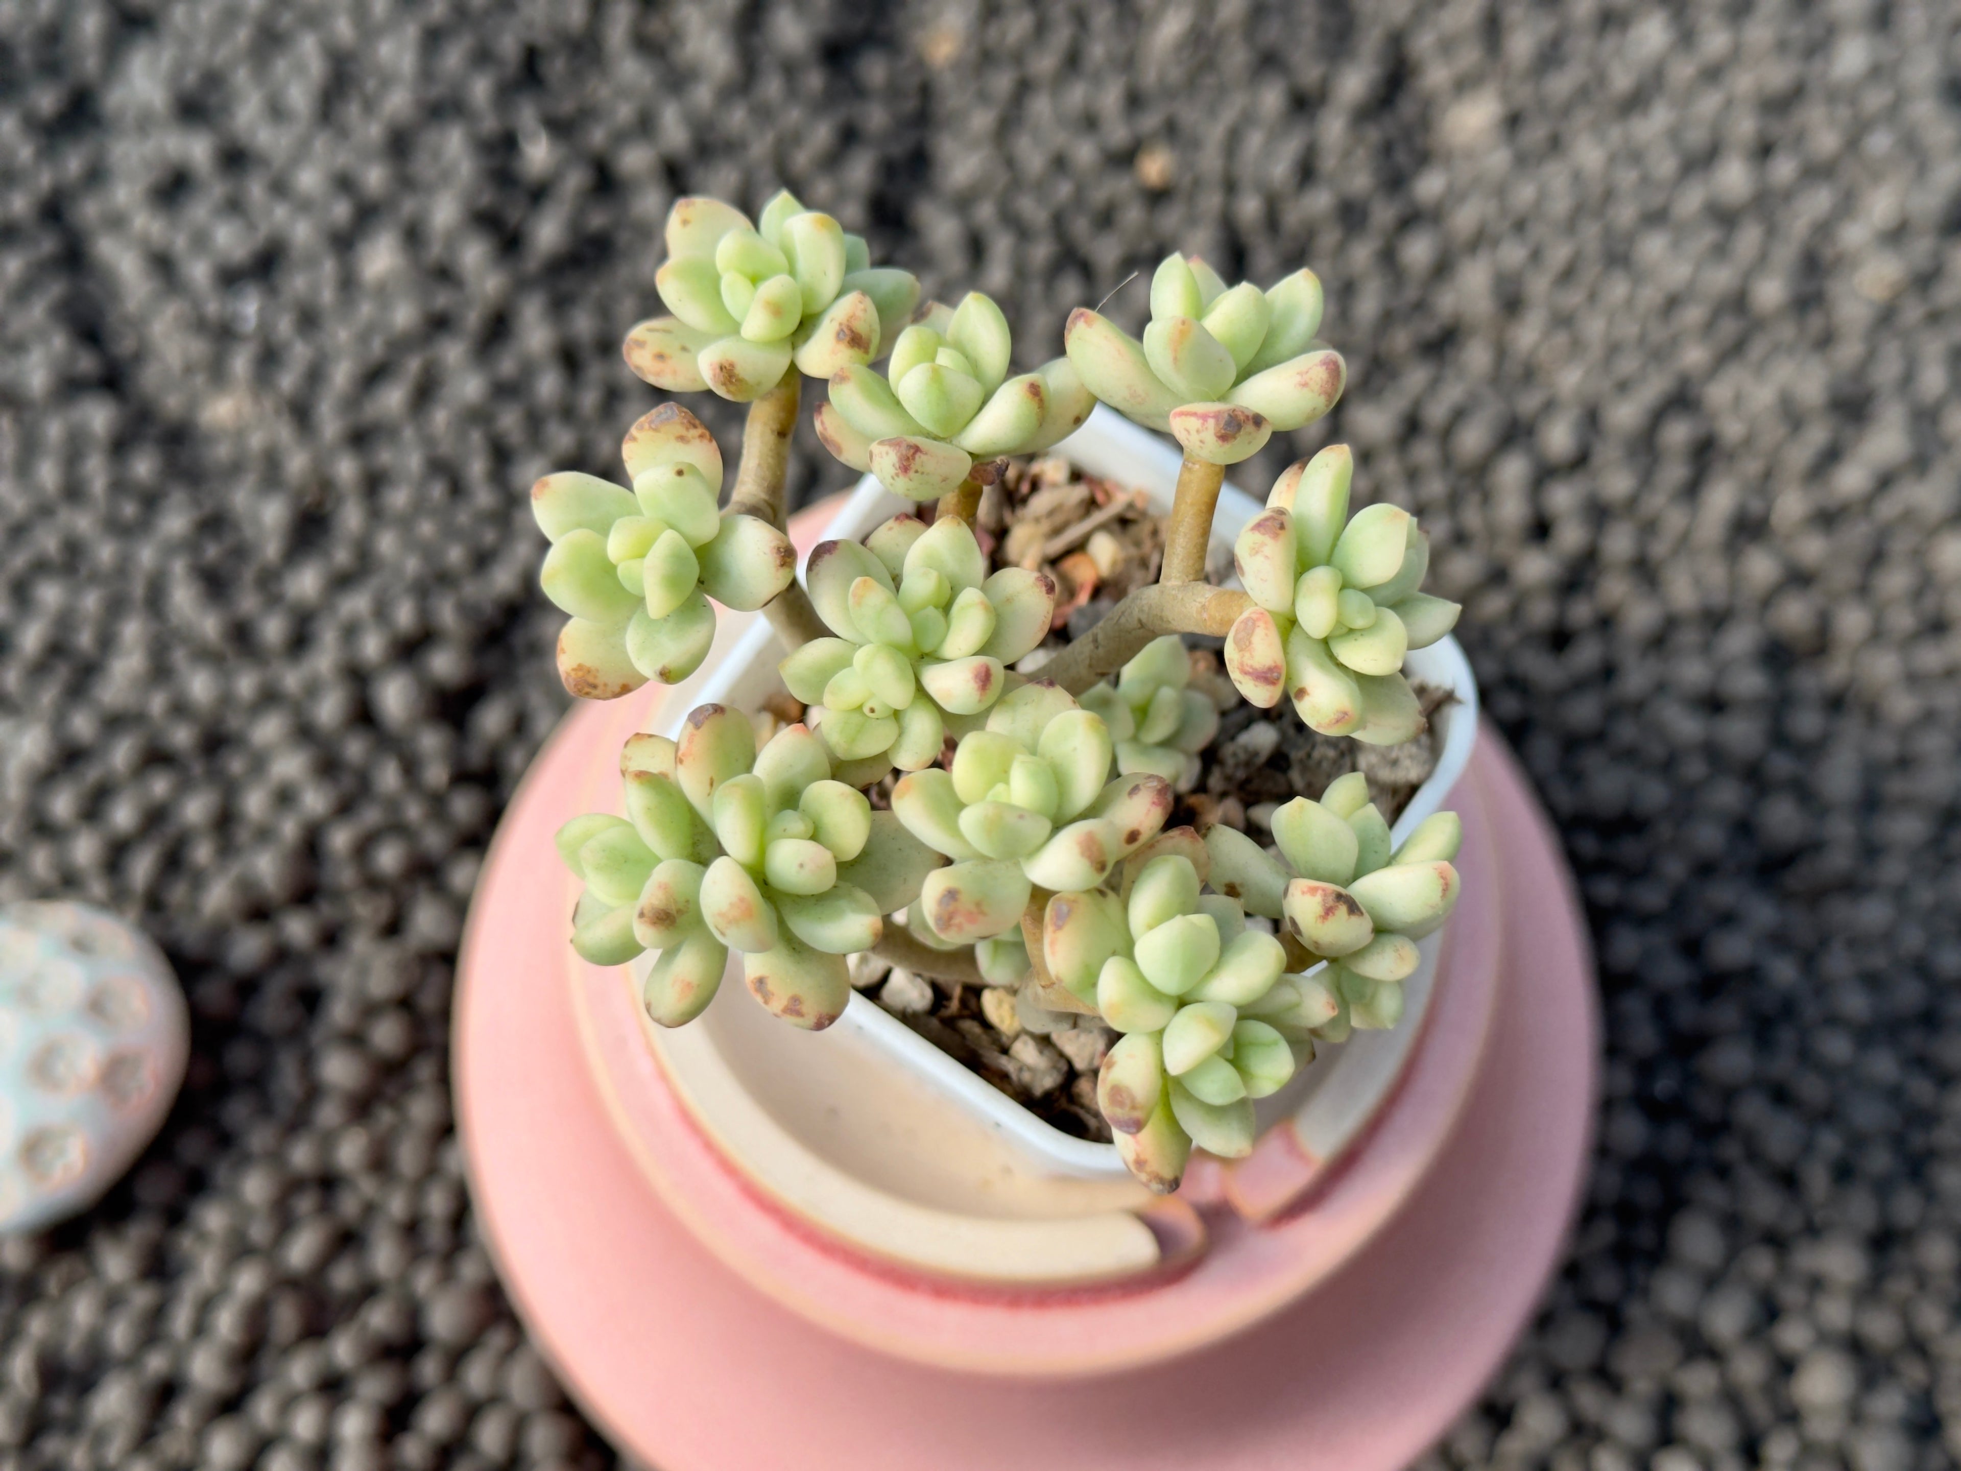
<svg viewBox="0 0 1961 1471">
<path fill-rule="evenodd" d="M 575 947 L 594 963 L 657 951 L 645 1006 L 663 1026 L 700 1014 L 729 951 L 749 990 L 806 1028 L 837 1018 L 843 957 L 875 945 L 918 975 L 1028 985 L 1018 1004 L 1096 1012 L 1122 1034 L 1098 1100 L 1139 1179 L 1177 1189 L 1194 1145 L 1245 1155 L 1253 1100 L 1316 1041 L 1396 1024 L 1416 941 L 1457 898 L 1455 816 L 1392 849 L 1359 775 L 1275 812 L 1279 857 L 1232 826 L 1163 832 L 1220 726 L 1186 634 L 1226 637 L 1255 704 L 1284 694 L 1318 732 L 1394 743 L 1424 728 L 1406 651 L 1457 620 L 1420 588 L 1414 518 L 1349 516 L 1341 445 L 1286 471 L 1239 535 L 1243 590 L 1206 583 L 1224 467 L 1345 386 L 1316 337 L 1320 280 L 1228 286 L 1173 255 L 1141 341 L 1079 310 L 1065 357 L 1012 375 L 990 298 L 916 312 L 910 275 L 871 269 L 863 239 L 788 192 L 755 224 L 680 200 L 667 249 L 673 316 L 633 328 L 626 357 L 655 386 L 749 402 L 743 459 L 720 508 L 714 437 L 663 406 L 626 439 L 629 486 L 537 482 L 543 583 L 571 616 L 561 675 L 596 698 L 680 681 L 710 649 L 716 600 L 769 616 L 808 724 L 757 749 L 747 716 L 702 706 L 679 745 L 629 739 L 626 816 L 559 834 L 584 883 Z M 831 455 L 937 500 L 863 543 L 818 545 L 802 584 L 784 533 L 800 375 L 828 380 L 816 428 Z M 988 571 L 980 492 L 990 461 L 1057 443 L 1098 398 L 1184 449 L 1161 575 L 1043 651 L 1028 683 L 1014 665 L 1051 632 L 1057 584 Z M 867 790 L 894 769 L 890 810 L 875 810 Z"/>
</svg>

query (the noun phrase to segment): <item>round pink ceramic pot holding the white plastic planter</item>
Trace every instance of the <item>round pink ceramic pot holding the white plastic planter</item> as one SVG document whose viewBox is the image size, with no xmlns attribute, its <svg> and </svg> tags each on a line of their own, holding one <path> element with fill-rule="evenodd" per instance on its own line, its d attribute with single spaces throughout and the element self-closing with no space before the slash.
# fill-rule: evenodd
<svg viewBox="0 0 1961 1471">
<path fill-rule="evenodd" d="M 1071 1240 L 1149 1245 L 1133 1275 L 1057 1293 L 949 1281 L 922 1269 L 930 1253 L 837 1230 L 800 1194 L 818 1167 L 916 1208 L 922 1240 L 965 1230 L 935 1208 L 982 1236 L 1031 1218 L 963 1216 L 926 1187 L 908 1202 L 904 1179 L 865 1179 L 822 1130 L 779 1130 L 816 1165 L 759 1169 L 698 1079 L 675 1087 L 622 971 L 571 955 L 551 832 L 616 802 L 620 741 L 657 700 L 575 710 L 528 775 L 473 906 L 455 1030 L 486 1236 L 573 1393 L 626 1449 L 669 1471 L 786 1451 L 994 1465 L 1010 1459 L 980 1430 L 996 1414 L 1041 1424 L 1014 1438 L 1016 1461 L 1396 1465 L 1475 1395 L 1557 1251 L 1596 1051 L 1571 885 L 1492 732 L 1451 790 L 1465 896 L 1433 1000 L 1392 1087 L 1349 1120 L 1347 1155 L 1281 1122 L 1253 1159 L 1194 1169 L 1173 1206 L 1088 1200 Z M 735 1102 L 771 1114 L 769 1098 Z M 812 1112 L 775 1106 L 779 1126 Z M 1067 1393 L 1031 1383 L 1086 1377 Z M 1179 1412 L 1153 1414 L 1167 1395 Z M 1296 1440 L 1300 1426 L 1312 1432 Z M 892 1453 L 867 1451 L 867 1434 Z"/>
</svg>

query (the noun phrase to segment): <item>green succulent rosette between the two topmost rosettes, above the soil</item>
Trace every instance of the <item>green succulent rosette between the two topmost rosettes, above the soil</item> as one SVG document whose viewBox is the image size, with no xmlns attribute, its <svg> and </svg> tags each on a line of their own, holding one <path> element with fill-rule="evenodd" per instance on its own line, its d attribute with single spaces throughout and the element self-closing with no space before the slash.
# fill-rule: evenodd
<svg viewBox="0 0 1961 1471">
<path fill-rule="evenodd" d="M 908 500 L 957 488 L 977 459 L 1047 449 L 1094 400 L 1069 359 L 1008 377 L 1008 318 L 980 292 L 931 302 L 892 345 L 884 377 L 845 365 L 816 414 L 824 447 Z"/>
</svg>

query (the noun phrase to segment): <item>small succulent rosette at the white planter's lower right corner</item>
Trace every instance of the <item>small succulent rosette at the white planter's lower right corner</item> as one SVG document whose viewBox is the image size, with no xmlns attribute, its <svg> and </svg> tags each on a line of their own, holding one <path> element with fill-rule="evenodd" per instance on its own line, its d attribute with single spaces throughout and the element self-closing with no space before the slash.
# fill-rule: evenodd
<svg viewBox="0 0 1961 1471">
<path fill-rule="evenodd" d="M 1273 839 L 1284 865 L 1245 834 L 1212 828 L 1212 887 L 1251 914 L 1284 920 L 1306 955 L 1328 961 L 1322 979 L 1339 1006 L 1322 1024 L 1322 1038 L 1341 1041 L 1351 1028 L 1396 1026 L 1402 983 L 1418 963 L 1416 941 L 1457 906 L 1457 814 L 1437 812 L 1402 847 L 1390 847 L 1369 781 L 1351 771 L 1318 802 L 1296 796 L 1277 808 Z"/>
</svg>

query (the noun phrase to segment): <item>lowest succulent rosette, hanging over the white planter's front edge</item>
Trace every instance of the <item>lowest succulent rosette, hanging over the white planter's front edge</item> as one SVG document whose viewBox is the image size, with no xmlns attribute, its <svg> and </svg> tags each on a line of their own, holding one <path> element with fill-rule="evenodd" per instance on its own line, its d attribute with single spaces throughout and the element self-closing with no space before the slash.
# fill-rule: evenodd
<svg viewBox="0 0 1961 1471">
<path fill-rule="evenodd" d="M 1153 1191 L 1179 1187 L 1194 1143 L 1251 1153 L 1253 1100 L 1314 1057 L 1314 1030 L 1337 1010 L 1320 979 L 1286 975 L 1286 947 L 1235 898 L 1202 892 L 1194 857 L 1204 851 L 1126 865 L 1137 873 L 1124 894 L 1057 894 L 1041 926 L 1049 973 L 1124 1034 L 1096 1102 Z"/>
</svg>

